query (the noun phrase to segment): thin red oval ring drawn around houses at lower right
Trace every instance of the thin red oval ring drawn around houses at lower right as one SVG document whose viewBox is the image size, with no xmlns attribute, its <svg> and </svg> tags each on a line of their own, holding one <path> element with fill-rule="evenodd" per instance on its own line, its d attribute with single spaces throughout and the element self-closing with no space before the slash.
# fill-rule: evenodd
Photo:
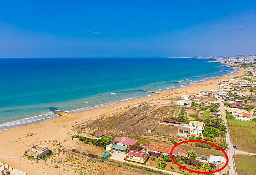
<svg viewBox="0 0 256 175">
<path fill-rule="evenodd" d="M 226 164 L 225 164 L 222 168 L 220 168 L 220 169 L 217 169 L 217 170 L 215 170 L 215 171 L 208 171 L 208 172 L 196 171 L 196 170 L 188 169 L 188 168 L 186 168 L 186 167 L 184 167 L 184 166 L 181 166 L 180 164 L 178 164 L 178 162 L 176 162 L 176 161 L 174 160 L 174 158 L 173 158 L 173 150 L 174 150 L 174 148 L 177 147 L 178 145 L 181 145 L 181 144 L 183 144 L 183 143 L 188 143 L 188 142 L 206 143 L 206 144 L 209 144 L 209 145 L 211 145 L 211 146 L 214 146 L 214 147 L 218 148 L 218 149 L 219 149 L 221 152 L 223 152 L 224 155 L 226 156 Z M 211 174 L 211 173 L 219 172 L 219 171 L 223 170 L 223 169 L 229 164 L 229 157 L 227 156 L 227 153 L 226 153 L 223 149 L 221 149 L 221 148 L 220 148 L 219 146 L 217 146 L 217 145 L 214 145 L 213 143 L 206 142 L 206 141 L 200 141 L 200 140 L 192 140 L 192 141 L 182 141 L 182 142 L 179 142 L 179 143 L 177 143 L 176 145 L 174 145 L 173 148 L 171 148 L 170 155 L 171 155 L 171 159 L 172 159 L 172 160 L 174 161 L 174 163 L 175 163 L 176 165 L 178 165 L 179 167 L 181 167 L 181 168 L 183 168 L 183 169 L 186 169 L 187 171 L 195 172 L 195 173 L 199 173 L 199 174 Z"/>
</svg>

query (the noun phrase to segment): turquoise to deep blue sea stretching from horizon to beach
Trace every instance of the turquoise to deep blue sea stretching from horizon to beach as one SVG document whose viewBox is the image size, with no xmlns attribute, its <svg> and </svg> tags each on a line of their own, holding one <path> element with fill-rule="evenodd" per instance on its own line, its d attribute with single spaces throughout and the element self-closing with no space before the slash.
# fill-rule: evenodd
<svg viewBox="0 0 256 175">
<path fill-rule="evenodd" d="M 236 71 L 209 59 L 6 58 L 0 59 L 0 130 L 98 108 L 197 83 Z"/>
</svg>

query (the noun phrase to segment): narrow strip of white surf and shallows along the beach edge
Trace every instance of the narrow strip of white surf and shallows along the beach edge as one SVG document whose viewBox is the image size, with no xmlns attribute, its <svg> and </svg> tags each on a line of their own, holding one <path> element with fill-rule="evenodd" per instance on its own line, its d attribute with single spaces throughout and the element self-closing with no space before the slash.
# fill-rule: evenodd
<svg viewBox="0 0 256 175">
<path fill-rule="evenodd" d="M 231 65 L 229 63 L 223 63 L 223 62 L 220 62 L 218 60 L 210 60 L 210 61 L 207 61 L 207 62 L 218 62 L 218 63 L 222 63 L 223 65 L 228 65 L 229 67 L 233 66 L 233 65 Z M 239 68 L 237 68 L 237 67 L 232 67 L 232 68 L 236 68 L 237 69 L 232 74 L 236 74 L 239 71 Z M 78 108 L 78 109 L 64 110 L 64 111 L 68 112 L 70 114 L 77 114 L 77 113 L 79 114 L 79 113 L 86 112 L 86 111 L 89 111 L 89 110 L 95 110 L 95 109 L 103 108 L 105 106 L 118 105 L 119 103 L 123 103 L 123 102 L 132 102 L 134 100 L 146 100 L 147 101 L 148 100 L 147 98 L 151 99 L 151 98 L 156 97 L 157 95 L 160 95 L 160 94 L 168 94 L 168 92 L 170 93 L 170 92 L 172 92 L 174 90 L 177 90 L 177 89 L 188 88 L 188 87 L 191 87 L 191 86 L 199 84 L 199 83 L 208 82 L 208 81 L 214 80 L 214 79 L 220 79 L 221 77 L 226 77 L 226 76 L 229 76 L 229 75 L 232 75 L 232 74 L 221 75 L 221 76 L 218 76 L 218 77 L 202 77 L 202 79 L 198 80 L 197 83 L 179 82 L 180 84 L 184 84 L 184 85 L 177 86 L 177 87 L 174 87 L 173 89 L 167 89 L 167 90 L 163 90 L 163 91 L 141 90 L 141 91 L 143 91 L 145 93 L 149 93 L 150 95 L 145 95 L 145 96 L 142 96 L 140 98 L 135 98 L 135 99 L 125 99 L 125 100 L 121 100 L 121 101 L 112 101 L 112 102 L 108 102 L 109 105 L 108 105 L 108 103 L 104 103 L 103 106 L 101 106 L 102 104 L 101 105 L 96 105 L 96 106 L 85 106 L 85 107 Z M 207 78 L 207 79 L 204 79 L 204 78 Z M 6 128 L 1 129 L 0 132 L 1 131 L 6 131 L 6 130 L 10 130 L 10 129 L 20 128 L 20 127 L 23 127 L 23 126 L 37 125 L 37 124 L 40 124 L 40 123 L 56 120 L 58 118 L 63 118 L 63 116 L 59 116 L 57 114 L 56 115 L 53 114 L 53 116 L 50 116 L 49 118 L 43 118 L 43 119 L 38 119 L 38 120 L 24 122 L 26 124 L 24 124 L 24 123 L 16 123 L 16 124 L 13 124 L 13 125 L 8 125 L 8 126 L 6 126 Z M 26 118 L 24 118 L 24 119 L 26 119 Z M 13 121 L 10 121 L 10 122 L 15 122 L 15 121 L 17 121 L 17 120 L 13 120 Z M 16 125 L 16 126 L 14 126 L 14 125 Z M 12 127 L 12 126 L 14 126 L 14 127 Z"/>
</svg>

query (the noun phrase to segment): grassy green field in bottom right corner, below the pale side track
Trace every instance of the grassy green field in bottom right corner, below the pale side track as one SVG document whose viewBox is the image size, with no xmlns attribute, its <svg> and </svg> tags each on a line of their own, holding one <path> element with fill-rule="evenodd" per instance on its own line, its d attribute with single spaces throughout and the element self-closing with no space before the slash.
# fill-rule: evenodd
<svg viewBox="0 0 256 175">
<path fill-rule="evenodd" d="M 255 175 L 256 158 L 253 156 L 236 154 L 235 157 L 237 175 Z"/>
</svg>

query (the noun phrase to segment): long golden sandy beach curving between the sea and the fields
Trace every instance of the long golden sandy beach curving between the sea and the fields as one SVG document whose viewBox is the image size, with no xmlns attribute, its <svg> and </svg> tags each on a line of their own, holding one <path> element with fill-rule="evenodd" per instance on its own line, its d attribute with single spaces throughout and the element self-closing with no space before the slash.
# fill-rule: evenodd
<svg viewBox="0 0 256 175">
<path fill-rule="evenodd" d="M 243 73 L 244 70 L 240 69 L 232 75 L 193 84 L 189 87 L 182 87 L 168 92 L 161 92 L 160 94 L 148 98 L 125 101 L 80 113 L 72 113 L 72 115 L 75 116 L 74 118 L 60 117 L 35 125 L 22 126 L 20 128 L 0 131 L 0 162 L 12 165 L 16 169 L 27 172 L 29 175 L 39 175 L 42 174 L 42 172 L 44 172 L 44 174 L 56 174 L 56 171 L 53 168 L 48 168 L 43 164 L 41 165 L 39 163 L 35 166 L 28 164 L 27 161 L 21 161 L 21 157 L 23 156 L 24 151 L 28 150 L 32 145 L 35 145 L 36 143 L 44 143 L 45 145 L 49 143 L 47 145 L 49 146 L 49 149 L 55 149 L 57 147 L 57 143 L 63 143 L 70 139 L 70 135 L 67 135 L 67 133 L 72 130 L 72 124 L 78 121 L 95 118 L 104 113 L 125 108 L 128 105 L 135 105 L 141 101 L 150 101 L 181 92 L 197 93 L 201 90 L 216 89 L 218 83 L 221 82 L 221 80 L 242 76 Z M 56 123 L 53 123 L 53 121 Z M 32 133 L 32 136 L 28 136 L 30 133 Z"/>
</svg>

